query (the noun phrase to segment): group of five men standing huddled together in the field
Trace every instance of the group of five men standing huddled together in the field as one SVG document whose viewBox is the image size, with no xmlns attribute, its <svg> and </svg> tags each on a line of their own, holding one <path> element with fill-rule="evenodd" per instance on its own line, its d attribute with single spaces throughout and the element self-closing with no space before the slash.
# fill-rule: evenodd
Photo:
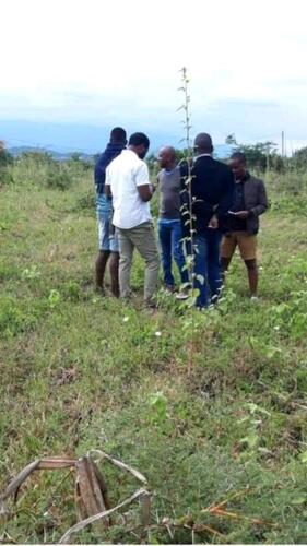
<svg viewBox="0 0 307 546">
<path fill-rule="evenodd" d="M 247 266 L 250 295 L 256 298 L 258 217 L 268 203 L 264 185 L 250 176 L 244 154 L 233 154 L 228 166 L 217 162 L 212 156 L 211 136 L 200 133 L 194 140 L 191 165 L 177 165 L 172 146 L 161 149 L 157 157 L 161 170 L 152 183 L 144 162 L 149 147 L 150 140 L 144 133 L 133 133 L 127 142 L 126 131 L 115 128 L 96 163 L 97 286 L 104 289 L 109 262 L 113 295 L 129 298 L 133 250 L 137 248 L 145 262 L 144 302 L 154 306 L 160 254 L 150 201 L 157 189 L 157 230 L 165 288 L 175 292 L 174 259 L 182 287 L 176 297 L 185 298 L 191 282 L 198 288 L 197 306 L 208 307 L 219 298 L 224 273 L 238 246 Z M 192 280 L 187 266 L 191 259 Z"/>
</svg>

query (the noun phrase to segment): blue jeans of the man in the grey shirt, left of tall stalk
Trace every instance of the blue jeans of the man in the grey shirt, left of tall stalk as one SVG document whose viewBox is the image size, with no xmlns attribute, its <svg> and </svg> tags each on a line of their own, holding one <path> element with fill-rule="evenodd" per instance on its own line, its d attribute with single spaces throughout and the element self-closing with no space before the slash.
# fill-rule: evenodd
<svg viewBox="0 0 307 546">
<path fill-rule="evenodd" d="M 184 270 L 186 265 L 182 252 L 182 229 L 180 219 L 163 219 L 157 223 L 158 238 L 162 252 L 162 265 L 164 273 L 164 283 L 174 286 L 175 281 L 172 273 L 172 257 L 174 258 L 180 273 L 181 283 L 189 282 L 189 274 Z"/>
</svg>

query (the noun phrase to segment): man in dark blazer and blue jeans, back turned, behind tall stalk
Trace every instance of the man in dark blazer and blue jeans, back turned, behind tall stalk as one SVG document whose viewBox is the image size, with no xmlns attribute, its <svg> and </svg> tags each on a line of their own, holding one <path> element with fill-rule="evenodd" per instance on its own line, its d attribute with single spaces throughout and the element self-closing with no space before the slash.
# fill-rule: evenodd
<svg viewBox="0 0 307 546">
<path fill-rule="evenodd" d="M 192 228 L 193 286 L 199 290 L 197 307 L 208 307 L 214 302 L 222 287 L 220 244 L 224 218 L 232 205 L 234 176 L 224 163 L 213 159 L 212 139 L 200 133 L 194 140 L 194 161 L 190 169 L 182 168 L 184 192 L 182 224 L 185 237 L 190 238 Z M 190 176 L 192 198 L 191 225 L 187 225 L 185 211 L 189 210 L 190 195 L 187 182 Z"/>
</svg>

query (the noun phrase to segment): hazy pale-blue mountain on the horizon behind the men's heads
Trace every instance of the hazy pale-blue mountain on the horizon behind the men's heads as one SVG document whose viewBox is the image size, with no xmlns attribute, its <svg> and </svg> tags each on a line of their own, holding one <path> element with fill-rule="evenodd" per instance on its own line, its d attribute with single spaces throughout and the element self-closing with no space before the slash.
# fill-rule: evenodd
<svg viewBox="0 0 307 546">
<path fill-rule="evenodd" d="M 66 158 L 73 152 L 80 152 L 85 156 L 101 152 L 108 141 L 110 129 L 104 126 L 81 123 L 2 120 L 0 121 L 0 140 L 4 140 L 14 154 L 19 154 L 19 150 L 24 149 L 43 149 L 51 153 L 54 157 Z M 128 134 L 133 130 L 135 129 L 127 127 Z M 162 128 L 157 132 L 146 127 L 143 130 L 147 132 L 151 140 L 150 152 L 156 152 L 160 146 L 166 144 L 182 147 L 180 135 L 176 134 L 176 131 L 172 133 Z M 227 144 L 215 145 L 217 157 L 227 157 L 231 152 L 232 147 Z"/>
</svg>

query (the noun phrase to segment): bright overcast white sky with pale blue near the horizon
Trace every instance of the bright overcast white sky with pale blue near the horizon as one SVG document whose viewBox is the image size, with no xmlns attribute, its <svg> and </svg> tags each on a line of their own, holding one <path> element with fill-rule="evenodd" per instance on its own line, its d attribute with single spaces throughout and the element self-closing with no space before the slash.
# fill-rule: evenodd
<svg viewBox="0 0 307 546">
<path fill-rule="evenodd" d="M 305 0 L 0 0 L 0 121 L 307 143 Z M 305 8 L 306 5 L 306 8 Z M 17 135 L 16 135 L 17 138 Z"/>
</svg>

